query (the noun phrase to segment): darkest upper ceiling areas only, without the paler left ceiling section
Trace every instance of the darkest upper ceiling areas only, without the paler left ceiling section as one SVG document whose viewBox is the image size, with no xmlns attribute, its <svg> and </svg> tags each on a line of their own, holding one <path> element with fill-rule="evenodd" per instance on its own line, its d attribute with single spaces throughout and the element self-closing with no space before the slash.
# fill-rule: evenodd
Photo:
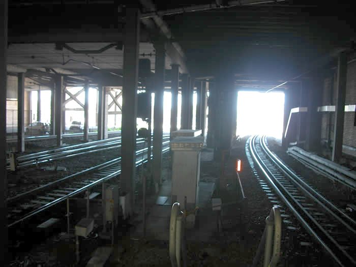
<svg viewBox="0 0 356 267">
<path fill-rule="evenodd" d="M 156 2 L 158 10 L 189 5 Z M 122 33 L 124 20 L 117 1 L 48 3 L 9 0 L 9 37 L 75 31 Z M 171 29 L 172 41 L 183 47 L 195 76 L 229 70 L 287 79 L 319 56 L 350 45 L 355 37 L 352 11 L 336 2 L 284 1 L 167 15 L 163 20 Z"/>
</svg>

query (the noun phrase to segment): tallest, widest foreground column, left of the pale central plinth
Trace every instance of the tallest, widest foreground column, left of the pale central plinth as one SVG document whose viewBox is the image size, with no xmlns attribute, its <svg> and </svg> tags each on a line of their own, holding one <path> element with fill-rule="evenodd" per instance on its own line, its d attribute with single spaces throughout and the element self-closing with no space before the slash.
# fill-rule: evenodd
<svg viewBox="0 0 356 267">
<path fill-rule="evenodd" d="M 137 115 L 137 82 L 138 52 L 140 36 L 140 11 L 128 6 L 124 36 L 124 78 L 122 109 L 122 192 L 127 194 L 130 210 L 133 213 L 134 183 L 136 163 L 136 115 Z"/>
</svg>

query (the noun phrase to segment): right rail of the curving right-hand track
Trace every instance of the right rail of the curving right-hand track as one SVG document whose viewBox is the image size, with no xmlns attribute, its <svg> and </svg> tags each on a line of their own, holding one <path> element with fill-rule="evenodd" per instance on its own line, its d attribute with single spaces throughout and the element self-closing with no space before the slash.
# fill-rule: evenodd
<svg viewBox="0 0 356 267">
<path fill-rule="evenodd" d="M 332 202 L 330 202 L 328 199 L 326 199 L 324 196 L 322 196 L 320 193 L 316 192 L 312 187 L 310 187 L 307 183 L 305 183 L 298 175 L 296 175 L 294 172 L 292 172 L 281 160 L 272 153 L 272 151 L 269 149 L 269 147 L 266 145 L 266 136 L 263 136 L 261 138 L 261 146 L 262 149 L 265 151 L 266 155 L 277 165 L 280 167 L 283 173 L 288 175 L 291 178 L 291 181 L 299 186 L 301 190 L 308 195 L 310 198 L 312 198 L 314 201 L 316 201 L 319 205 L 323 207 L 326 211 L 328 211 L 330 214 L 334 216 L 336 220 L 338 220 L 340 223 L 342 223 L 346 228 L 348 228 L 350 231 L 353 233 L 356 233 L 356 221 L 353 220 L 350 216 L 348 216 L 346 213 L 341 211 L 336 205 L 334 205 Z M 337 215 L 339 214 L 339 215 Z M 346 218 L 349 223 L 352 224 L 350 226 L 348 223 L 346 223 L 344 220 L 340 218 L 340 216 Z"/>
</svg>

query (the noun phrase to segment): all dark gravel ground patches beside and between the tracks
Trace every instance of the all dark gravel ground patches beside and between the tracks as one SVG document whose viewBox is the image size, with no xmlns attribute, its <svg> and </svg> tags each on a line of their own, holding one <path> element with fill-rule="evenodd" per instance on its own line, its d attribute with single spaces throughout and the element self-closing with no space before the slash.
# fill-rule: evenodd
<svg viewBox="0 0 356 267">
<path fill-rule="evenodd" d="M 201 175 L 220 177 L 214 195 L 220 196 L 223 203 L 228 205 L 224 206 L 222 211 L 223 230 L 221 232 L 214 233 L 210 242 L 189 241 L 188 266 L 249 266 L 252 263 L 265 226 L 265 217 L 268 216 L 272 204 L 250 168 L 245 154 L 246 140 L 247 138 L 243 138 L 234 145 L 231 157 L 224 166 L 223 175 L 221 175 L 220 163 L 202 162 L 201 164 Z M 313 186 L 317 187 L 320 192 L 325 193 L 325 196 L 333 197 L 335 201 L 339 201 L 338 203 L 348 201 L 347 199 L 350 196 L 345 194 L 347 192 L 344 188 L 339 188 L 328 179 L 306 169 L 304 165 L 284 154 L 278 140 L 269 138 L 268 141 L 272 151 L 290 167 L 309 179 Z M 99 164 L 117 157 L 115 153 L 110 155 L 98 153 L 96 155 L 96 157 L 81 157 L 80 160 L 64 161 L 61 164 L 58 163 L 58 165 L 66 164 L 65 166 L 71 171 L 78 171 L 86 166 L 93 165 L 93 163 Z M 236 159 L 242 161 L 243 170 L 240 173 L 240 179 L 247 197 L 247 203 L 244 203 L 244 205 L 241 205 L 240 199 L 236 197 L 236 190 L 238 190 L 234 173 Z M 167 168 L 168 164 L 165 164 L 165 173 L 169 172 Z M 43 174 L 43 172 L 41 173 Z M 242 208 L 243 210 L 241 210 Z M 241 224 L 240 211 L 243 214 Z M 130 239 L 130 236 L 126 235 L 118 244 L 120 246 L 114 247 L 113 255 L 118 256 L 121 260 L 120 262 L 115 261 L 115 263 L 111 261 L 107 266 L 170 266 L 167 242 Z M 97 243 L 93 241 L 93 246 L 95 245 Z M 89 249 L 87 253 L 90 254 L 90 251 L 92 250 Z M 73 262 L 74 259 L 73 239 L 66 239 L 63 235 L 53 236 L 38 248 L 34 248 L 32 254 L 36 254 L 34 257 L 40 255 L 38 261 L 46 259 L 46 266 L 71 266 L 70 262 Z M 62 258 L 61 255 L 68 256 Z"/>
</svg>

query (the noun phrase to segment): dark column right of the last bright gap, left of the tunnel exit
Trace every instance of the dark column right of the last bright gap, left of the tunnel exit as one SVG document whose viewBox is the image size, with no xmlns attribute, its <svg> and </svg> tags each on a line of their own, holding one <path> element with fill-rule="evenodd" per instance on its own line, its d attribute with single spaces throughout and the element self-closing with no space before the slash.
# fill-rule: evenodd
<svg viewBox="0 0 356 267">
<path fill-rule="evenodd" d="M 209 83 L 209 98 L 207 99 L 207 105 L 209 107 L 209 113 L 207 116 L 207 136 L 206 136 L 206 145 L 207 147 L 215 146 L 215 118 L 217 117 L 217 98 L 218 94 L 216 92 L 215 84 Z"/>
</svg>

